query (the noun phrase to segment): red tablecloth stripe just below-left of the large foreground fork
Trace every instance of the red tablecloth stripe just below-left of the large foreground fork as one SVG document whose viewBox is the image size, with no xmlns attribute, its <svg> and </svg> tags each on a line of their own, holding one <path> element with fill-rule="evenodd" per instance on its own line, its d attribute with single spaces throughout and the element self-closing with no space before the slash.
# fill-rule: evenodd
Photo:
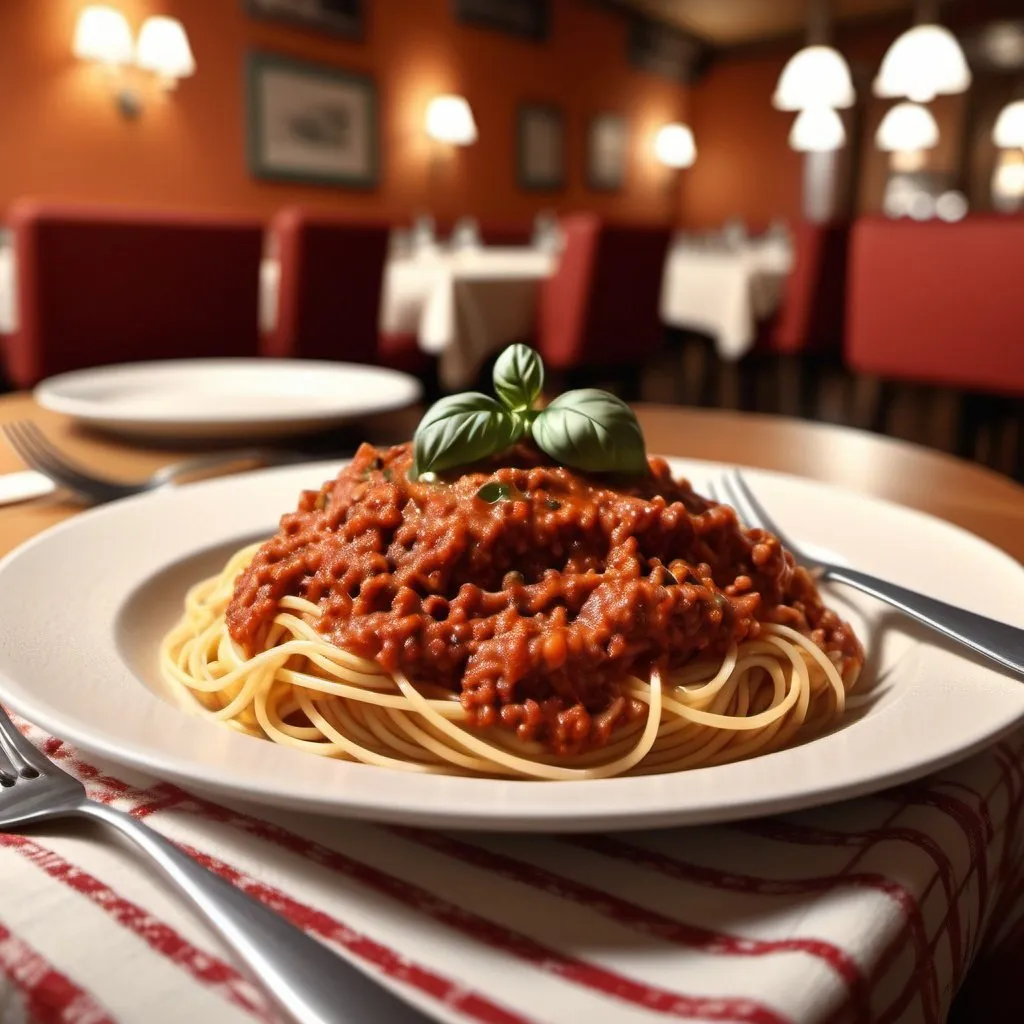
<svg viewBox="0 0 1024 1024">
<path fill-rule="evenodd" d="M 137 935 L 154 952 L 182 968 L 196 981 L 208 986 L 236 1007 L 258 1020 L 274 1019 L 255 987 L 230 964 L 196 948 L 170 925 L 138 904 L 119 896 L 99 879 L 24 836 L 0 835 L 0 845 L 17 851 L 51 879 L 85 896 L 119 925 Z"/>
</svg>

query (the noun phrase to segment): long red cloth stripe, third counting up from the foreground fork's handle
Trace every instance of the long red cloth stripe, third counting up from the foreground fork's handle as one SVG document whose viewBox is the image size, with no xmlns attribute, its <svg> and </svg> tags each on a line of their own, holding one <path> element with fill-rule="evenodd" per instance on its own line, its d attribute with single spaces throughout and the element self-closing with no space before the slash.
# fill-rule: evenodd
<svg viewBox="0 0 1024 1024">
<path fill-rule="evenodd" d="M 654 935 L 666 942 L 674 942 L 702 953 L 721 956 L 764 956 L 772 953 L 805 953 L 819 959 L 834 971 L 850 990 L 854 1005 L 866 1016 L 867 1000 L 864 978 L 856 962 L 830 942 L 817 939 L 781 939 L 765 941 L 743 938 L 696 925 L 689 925 L 650 910 L 636 903 L 621 899 L 610 893 L 583 883 L 555 874 L 545 868 L 495 853 L 480 846 L 463 843 L 450 836 L 392 825 L 388 830 L 412 843 L 419 843 L 447 857 L 454 857 L 474 867 L 486 868 L 520 885 L 571 900 L 586 906 L 617 924 L 636 929 L 645 935 Z M 590 837 L 579 841 L 584 846 Z M 573 842 L 569 838 L 568 842 Z M 598 840 L 600 842 L 600 840 Z M 632 858 L 626 858 L 632 859 Z"/>
</svg>

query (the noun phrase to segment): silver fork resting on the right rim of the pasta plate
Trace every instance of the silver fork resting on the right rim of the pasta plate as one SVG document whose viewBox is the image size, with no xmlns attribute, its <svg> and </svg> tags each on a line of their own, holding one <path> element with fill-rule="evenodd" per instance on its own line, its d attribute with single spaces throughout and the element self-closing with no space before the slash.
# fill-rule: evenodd
<svg viewBox="0 0 1024 1024">
<path fill-rule="evenodd" d="M 934 597 L 927 597 L 866 572 L 814 558 L 782 532 L 751 490 L 739 470 L 734 469 L 722 474 L 718 482 L 710 482 L 706 489 L 708 496 L 715 501 L 725 501 L 732 505 L 748 526 L 759 526 L 774 534 L 782 542 L 783 547 L 793 552 L 794 558 L 801 565 L 816 572 L 819 579 L 845 583 L 865 594 L 870 594 L 871 597 L 899 608 L 919 623 L 937 630 L 979 654 L 984 654 L 1002 668 L 1024 676 L 1024 630 L 995 618 L 979 615 L 974 611 L 957 608 L 944 601 L 937 601 Z"/>
</svg>

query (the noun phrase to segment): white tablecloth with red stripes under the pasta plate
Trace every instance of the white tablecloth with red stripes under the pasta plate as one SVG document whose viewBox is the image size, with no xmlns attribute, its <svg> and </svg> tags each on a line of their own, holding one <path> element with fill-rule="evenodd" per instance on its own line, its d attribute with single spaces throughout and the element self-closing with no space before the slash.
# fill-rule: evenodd
<svg viewBox="0 0 1024 1024">
<path fill-rule="evenodd" d="M 441 1021 L 941 1021 L 968 967 L 1024 922 L 1024 733 L 814 812 L 540 838 L 228 807 L 26 728 L 95 799 Z M 271 1019 L 110 837 L 0 836 L 3 1024 Z"/>
</svg>

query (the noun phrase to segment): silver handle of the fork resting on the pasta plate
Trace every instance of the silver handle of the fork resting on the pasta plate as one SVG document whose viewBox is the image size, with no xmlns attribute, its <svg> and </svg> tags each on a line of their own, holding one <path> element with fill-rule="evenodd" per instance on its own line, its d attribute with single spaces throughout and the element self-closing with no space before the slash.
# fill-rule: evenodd
<svg viewBox="0 0 1024 1024">
<path fill-rule="evenodd" d="M 979 654 L 1024 676 L 1024 630 L 995 618 L 957 608 L 886 580 L 840 565 L 825 567 L 825 577 L 845 583 L 900 609 Z"/>
</svg>

